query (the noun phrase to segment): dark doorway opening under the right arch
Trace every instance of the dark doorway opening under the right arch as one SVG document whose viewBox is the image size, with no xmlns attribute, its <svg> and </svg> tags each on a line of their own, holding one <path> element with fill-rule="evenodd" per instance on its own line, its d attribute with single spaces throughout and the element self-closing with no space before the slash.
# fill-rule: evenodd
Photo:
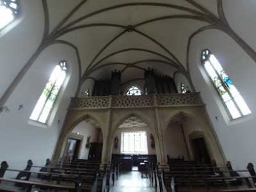
<svg viewBox="0 0 256 192">
<path fill-rule="evenodd" d="M 191 144 L 193 147 L 195 161 L 211 164 L 211 158 L 205 145 L 204 138 L 193 139 L 191 140 Z"/>
</svg>

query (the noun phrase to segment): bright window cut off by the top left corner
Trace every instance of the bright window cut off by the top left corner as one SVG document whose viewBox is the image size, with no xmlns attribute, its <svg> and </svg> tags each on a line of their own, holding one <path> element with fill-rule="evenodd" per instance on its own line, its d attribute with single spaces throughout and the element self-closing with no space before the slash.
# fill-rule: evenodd
<svg viewBox="0 0 256 192">
<path fill-rule="evenodd" d="M 0 30 L 17 19 L 19 0 L 0 0 Z"/>
</svg>

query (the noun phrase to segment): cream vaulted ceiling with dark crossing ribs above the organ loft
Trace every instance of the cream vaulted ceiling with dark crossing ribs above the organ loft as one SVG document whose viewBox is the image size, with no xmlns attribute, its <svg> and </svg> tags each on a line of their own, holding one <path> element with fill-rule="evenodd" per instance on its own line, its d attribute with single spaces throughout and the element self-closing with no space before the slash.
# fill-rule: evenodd
<svg viewBox="0 0 256 192">
<path fill-rule="evenodd" d="M 145 68 L 159 75 L 180 72 L 188 81 L 189 44 L 205 29 L 228 29 L 221 0 L 42 1 L 42 47 L 66 44 L 86 79 L 122 72 L 121 83 L 143 79 Z"/>
</svg>

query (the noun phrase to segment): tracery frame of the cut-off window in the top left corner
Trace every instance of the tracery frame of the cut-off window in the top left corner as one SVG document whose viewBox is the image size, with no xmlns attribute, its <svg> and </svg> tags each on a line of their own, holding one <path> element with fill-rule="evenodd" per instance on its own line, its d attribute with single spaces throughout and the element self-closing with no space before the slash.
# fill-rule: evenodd
<svg viewBox="0 0 256 192">
<path fill-rule="evenodd" d="M 8 10 L 12 11 L 12 15 L 13 15 L 13 19 L 6 23 L 2 28 L 0 28 L 0 31 L 2 31 L 4 28 L 6 28 L 7 26 L 9 26 L 10 24 L 12 24 L 15 20 L 18 19 L 19 15 L 20 15 L 20 2 L 19 0 L 0 0 L 0 3 L 3 3 L 0 5 L 1 6 L 5 6 L 5 8 L 7 8 Z M 17 8 L 13 8 L 12 6 L 10 6 L 11 3 L 17 4 Z"/>
</svg>

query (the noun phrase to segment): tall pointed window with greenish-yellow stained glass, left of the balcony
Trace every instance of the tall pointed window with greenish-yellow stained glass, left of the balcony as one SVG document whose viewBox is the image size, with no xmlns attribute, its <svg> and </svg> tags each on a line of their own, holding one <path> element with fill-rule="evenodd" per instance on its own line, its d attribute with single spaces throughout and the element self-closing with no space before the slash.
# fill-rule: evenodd
<svg viewBox="0 0 256 192">
<path fill-rule="evenodd" d="M 35 109 L 30 116 L 31 120 L 42 123 L 47 122 L 66 75 L 67 63 L 66 61 L 60 61 L 52 71 L 51 77 L 36 103 Z"/>
</svg>

